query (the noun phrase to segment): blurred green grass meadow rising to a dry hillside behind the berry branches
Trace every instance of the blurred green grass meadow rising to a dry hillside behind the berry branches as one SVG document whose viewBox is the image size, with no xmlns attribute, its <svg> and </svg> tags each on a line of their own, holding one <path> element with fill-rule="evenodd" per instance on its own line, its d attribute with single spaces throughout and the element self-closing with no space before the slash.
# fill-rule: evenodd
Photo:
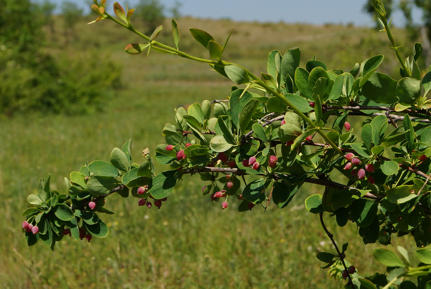
<svg viewBox="0 0 431 289">
<path fill-rule="evenodd" d="M 319 251 L 334 249 L 318 215 L 305 209 L 305 198 L 322 192 L 311 185 L 304 185 L 282 210 L 271 204 L 265 214 L 261 207 L 238 213 L 239 202 L 230 201 L 222 210 L 220 203 L 201 195 L 203 182 L 187 176 L 160 210 L 138 207 L 133 197 L 110 196 L 106 207 L 116 214 L 101 216 L 110 229 L 104 239 L 87 243 L 65 238 L 54 252 L 42 243 L 27 247 L 19 215 L 41 177 L 52 173 L 51 188 L 64 192 L 63 178 L 71 171 L 85 161 L 109 160 L 112 148 L 129 138 L 132 160 L 141 163 L 144 148 L 153 154 L 164 142 L 162 127 L 175 122 L 174 108 L 230 93 L 232 83 L 205 64 L 155 52 L 148 58 L 128 55 L 125 45 L 139 42 L 129 31 L 107 20 L 84 23 L 67 46 L 57 28 L 48 37 L 50 50 L 58 57 L 97 51 L 112 58 L 123 67 L 123 88 L 106 99 L 100 113 L 0 119 L 1 288 L 341 288 L 315 258 Z M 191 18 L 178 24 L 180 48 L 200 57 L 206 51 L 188 35 L 188 27 L 202 28 L 221 42 L 235 27 L 225 56 L 256 73 L 266 70 L 269 51 L 284 53 L 294 46 L 302 48 L 301 65 L 317 54 L 328 68 L 348 71 L 355 62 L 387 54 L 379 70 L 393 75 L 398 70 L 392 51 L 381 48 L 389 46 L 385 35 L 369 28 Z M 164 27 L 160 39 L 171 44 L 169 22 Z M 401 30 L 395 35 L 400 44 L 406 40 Z M 406 47 L 404 52 L 410 53 L 412 45 Z M 339 244 L 350 243 L 347 260 L 359 274 L 383 270 L 373 263 L 377 245 L 364 246 L 354 223 L 338 228 L 328 215 L 326 223 Z M 411 236 L 393 241 L 395 246 L 414 246 Z"/>
</svg>

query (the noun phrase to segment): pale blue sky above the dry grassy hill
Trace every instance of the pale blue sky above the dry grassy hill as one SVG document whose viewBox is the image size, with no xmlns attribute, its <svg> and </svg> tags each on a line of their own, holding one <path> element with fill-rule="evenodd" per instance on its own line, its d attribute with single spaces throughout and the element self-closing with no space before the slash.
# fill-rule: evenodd
<svg viewBox="0 0 431 289">
<path fill-rule="evenodd" d="M 61 3 L 63 0 L 52 2 Z M 70 0 L 69 0 L 70 1 Z M 91 0 L 72 0 L 82 7 L 88 7 Z M 114 0 L 108 0 L 111 5 Z M 138 0 L 119 0 L 121 5 L 133 7 Z M 167 8 L 175 0 L 160 0 Z M 355 25 L 374 25 L 371 17 L 362 12 L 365 0 L 179 0 L 180 13 L 200 18 L 230 18 L 237 21 L 259 22 L 306 22 L 313 24 L 352 22 Z M 89 10 L 87 10 L 89 11 Z M 418 9 L 413 11 L 415 22 L 422 20 Z M 394 13 L 395 25 L 403 25 L 404 19 L 398 11 Z"/>
</svg>

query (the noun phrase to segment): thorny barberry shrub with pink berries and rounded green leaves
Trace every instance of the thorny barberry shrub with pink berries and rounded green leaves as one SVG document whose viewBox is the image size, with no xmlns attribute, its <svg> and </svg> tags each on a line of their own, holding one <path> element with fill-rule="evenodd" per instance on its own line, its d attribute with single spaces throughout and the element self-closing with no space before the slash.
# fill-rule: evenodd
<svg viewBox="0 0 431 289">
<path fill-rule="evenodd" d="M 104 207 L 109 195 L 131 194 L 141 206 L 151 208 L 153 202 L 160 208 L 184 174 L 207 182 L 202 193 L 209 195 L 209 201 L 222 198 L 222 209 L 227 210 L 237 203 L 240 212 L 258 204 L 266 209 L 270 201 L 285 208 L 309 182 L 321 185 L 322 193 L 307 198 L 306 209 L 319 214 L 336 251 L 317 254 L 325 263 L 322 268 L 331 267 L 332 276 L 347 279 L 346 288 L 416 288 L 411 281 L 402 281 L 415 276 L 417 288 L 431 286 L 431 101 L 426 98 L 431 70 L 421 80 L 419 43 L 412 57 L 401 59 L 380 0 L 374 5 L 400 60 L 399 81 L 377 71 L 383 55 L 355 63 L 344 72 L 328 69 L 315 58 L 300 67 L 300 48 L 271 51 L 267 72 L 254 75 L 223 60 L 231 35 L 219 44 L 208 32 L 190 28 L 209 52 L 208 59 L 194 57 L 179 50 L 180 32 L 174 19 L 175 47 L 170 47 L 155 40 L 162 26 L 150 37 L 133 28 L 133 9 L 125 11 L 114 3 L 117 19 L 106 13 L 105 0 L 94 3 L 92 9 L 99 14 L 94 22 L 110 19 L 147 42 L 128 44 L 127 53 L 154 50 L 207 63 L 245 87 L 233 86 L 226 100 L 175 109 L 175 123 L 166 124 L 162 131 L 166 144 L 151 152 L 144 149 L 141 164 L 132 162 L 128 140 L 112 150 L 109 162 L 86 162 L 70 173 L 65 178 L 66 194 L 50 189 L 50 175 L 41 179 L 39 194 L 28 196 L 35 206 L 22 214 L 28 245 L 41 240 L 53 249 L 69 234 L 75 240 L 105 237 L 108 227 L 99 216 L 112 214 Z M 347 122 L 355 116 L 365 116 L 356 135 Z M 154 161 L 169 167 L 156 173 Z M 419 267 L 410 267 L 403 247 L 397 248 L 402 258 L 388 248 L 376 248 L 375 258 L 387 266 L 386 271 L 372 276 L 356 272 L 345 261 L 348 244 L 339 247 L 326 228 L 325 212 L 336 218 L 338 226 L 355 222 L 364 244 L 389 245 L 392 238 L 411 233 L 419 247 L 415 251 Z M 32 230 L 33 226 L 38 229 Z"/>
</svg>

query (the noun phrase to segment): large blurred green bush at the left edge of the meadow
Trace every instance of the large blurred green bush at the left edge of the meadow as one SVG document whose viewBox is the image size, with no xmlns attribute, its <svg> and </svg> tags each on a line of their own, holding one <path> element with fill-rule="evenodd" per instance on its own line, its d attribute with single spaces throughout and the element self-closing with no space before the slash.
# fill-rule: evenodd
<svg viewBox="0 0 431 289">
<path fill-rule="evenodd" d="M 0 7 L 1 114 L 98 110 L 120 86 L 119 68 L 98 54 L 57 59 L 46 52 L 43 5 L 0 0 Z"/>
</svg>

